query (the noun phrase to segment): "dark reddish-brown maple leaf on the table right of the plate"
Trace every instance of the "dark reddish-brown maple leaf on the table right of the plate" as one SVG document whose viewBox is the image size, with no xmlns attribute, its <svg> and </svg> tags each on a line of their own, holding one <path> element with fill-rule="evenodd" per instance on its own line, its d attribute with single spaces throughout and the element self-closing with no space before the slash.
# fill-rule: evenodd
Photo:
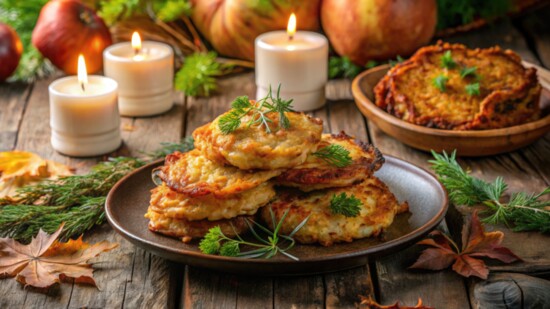
<svg viewBox="0 0 550 309">
<path fill-rule="evenodd" d="M 462 228 L 462 250 L 440 231 L 434 231 L 430 236 L 418 244 L 433 248 L 422 251 L 418 260 L 409 268 L 441 270 L 452 265 L 453 270 L 461 276 L 487 279 L 489 269 L 483 260 L 475 257 L 488 257 L 504 263 L 521 261 L 510 249 L 500 245 L 504 238 L 501 231 L 485 232 L 477 211 L 474 211 L 470 225 L 465 224 Z"/>
</svg>

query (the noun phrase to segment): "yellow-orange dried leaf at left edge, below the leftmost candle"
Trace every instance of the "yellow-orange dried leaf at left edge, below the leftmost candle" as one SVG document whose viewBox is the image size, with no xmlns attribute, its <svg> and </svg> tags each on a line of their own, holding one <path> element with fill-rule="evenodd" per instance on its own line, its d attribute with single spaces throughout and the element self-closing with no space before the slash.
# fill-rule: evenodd
<svg viewBox="0 0 550 309">
<path fill-rule="evenodd" d="M 13 195 L 21 186 L 71 174 L 69 167 L 31 152 L 0 152 L 0 198 Z"/>
</svg>

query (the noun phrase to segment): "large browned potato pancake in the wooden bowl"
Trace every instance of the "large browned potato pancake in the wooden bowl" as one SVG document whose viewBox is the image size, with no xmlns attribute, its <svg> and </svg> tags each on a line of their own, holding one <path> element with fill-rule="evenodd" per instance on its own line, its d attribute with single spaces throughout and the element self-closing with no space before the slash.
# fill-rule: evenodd
<svg viewBox="0 0 550 309">
<path fill-rule="evenodd" d="M 454 68 L 441 66 L 446 51 Z M 462 69 L 473 67 L 475 74 L 461 76 Z M 444 92 L 433 85 L 438 76 L 448 78 Z M 473 83 L 479 83 L 479 95 L 467 93 Z M 438 42 L 391 68 L 374 91 L 376 105 L 388 113 L 439 129 L 503 128 L 540 116 L 536 70 L 524 68 L 517 54 L 499 47 L 472 50 Z"/>
</svg>

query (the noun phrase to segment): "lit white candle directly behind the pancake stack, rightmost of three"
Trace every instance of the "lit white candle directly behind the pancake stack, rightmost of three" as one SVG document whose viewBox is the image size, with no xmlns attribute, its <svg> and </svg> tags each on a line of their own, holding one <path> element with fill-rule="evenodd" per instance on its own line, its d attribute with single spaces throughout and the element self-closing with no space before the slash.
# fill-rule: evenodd
<svg viewBox="0 0 550 309">
<path fill-rule="evenodd" d="M 314 110 L 325 104 L 328 40 L 319 33 L 291 30 L 256 38 L 256 97 L 265 97 L 269 86 L 276 91 L 280 84 L 281 97 L 294 99 L 295 110 Z"/>
</svg>

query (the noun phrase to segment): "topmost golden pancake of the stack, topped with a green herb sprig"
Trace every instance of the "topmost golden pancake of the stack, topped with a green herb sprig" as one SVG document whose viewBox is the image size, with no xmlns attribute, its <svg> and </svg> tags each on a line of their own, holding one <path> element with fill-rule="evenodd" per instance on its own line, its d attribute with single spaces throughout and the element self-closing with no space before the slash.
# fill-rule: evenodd
<svg viewBox="0 0 550 309">
<path fill-rule="evenodd" d="M 195 147 L 212 161 L 245 170 L 291 168 L 301 164 L 316 149 L 323 131 L 322 120 L 303 113 L 286 112 L 290 121 L 288 129 L 277 129 L 277 113 L 266 114 L 271 120 L 271 133 L 266 132 L 264 125 L 248 126 L 252 117 L 248 114 L 237 130 L 223 134 L 218 126 L 223 115 L 193 132 Z"/>
</svg>

